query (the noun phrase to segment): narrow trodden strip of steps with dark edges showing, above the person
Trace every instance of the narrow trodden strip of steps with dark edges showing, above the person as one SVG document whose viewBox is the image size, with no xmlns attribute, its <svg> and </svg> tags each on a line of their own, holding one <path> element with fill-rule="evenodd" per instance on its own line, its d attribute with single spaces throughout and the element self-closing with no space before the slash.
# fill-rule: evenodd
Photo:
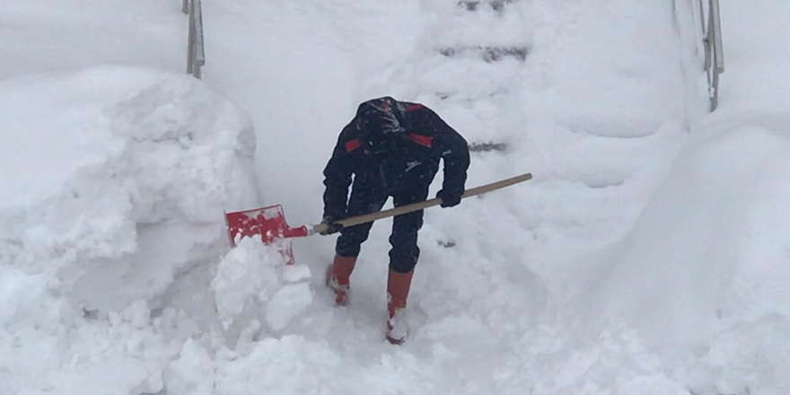
<svg viewBox="0 0 790 395">
<path fill-rule="evenodd" d="M 418 96 L 428 102 L 438 99 L 441 112 L 460 110 L 475 118 L 461 127 L 472 152 L 508 150 L 507 138 L 497 133 L 495 124 L 502 118 L 499 111 L 503 110 L 508 86 L 531 52 L 529 37 L 511 29 L 514 20 L 510 9 L 516 4 L 518 0 L 463 0 L 454 9 L 443 8 L 443 13 L 453 14 L 443 18 L 446 25 L 432 37 L 438 57 L 429 62 Z M 481 105 L 487 108 L 480 110 Z M 487 132 L 467 133 L 472 130 Z"/>
</svg>

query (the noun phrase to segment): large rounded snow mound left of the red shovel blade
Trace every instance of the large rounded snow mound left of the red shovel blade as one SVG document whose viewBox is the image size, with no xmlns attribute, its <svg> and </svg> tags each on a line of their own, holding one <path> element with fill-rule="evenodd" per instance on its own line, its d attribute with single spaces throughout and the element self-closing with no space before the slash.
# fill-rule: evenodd
<svg viewBox="0 0 790 395">
<path fill-rule="evenodd" d="M 186 76 L 100 67 L 0 92 L 0 262 L 80 285 L 86 307 L 161 291 L 221 239 L 223 209 L 255 201 L 249 119 Z"/>
</svg>

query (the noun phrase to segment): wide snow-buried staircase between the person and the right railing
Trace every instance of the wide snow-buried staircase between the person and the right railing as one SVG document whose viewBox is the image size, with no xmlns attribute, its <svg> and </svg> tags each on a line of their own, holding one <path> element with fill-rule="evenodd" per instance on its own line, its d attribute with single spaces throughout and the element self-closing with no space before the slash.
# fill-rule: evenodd
<svg viewBox="0 0 790 395">
<path fill-rule="evenodd" d="M 644 198 L 682 138 L 681 76 L 642 62 L 679 61 L 671 57 L 676 51 L 644 48 L 632 34 L 641 28 L 618 24 L 617 4 L 596 3 L 461 0 L 436 6 L 434 26 L 424 36 L 426 57 L 408 75 L 417 81 L 408 81 L 417 90 L 410 96 L 467 138 L 478 161 L 473 177 L 513 169 L 536 175 L 529 198 L 488 208 L 518 218 L 513 229 L 522 227 L 524 241 L 549 243 L 541 237 L 551 234 L 578 241 L 581 249 L 617 239 L 624 232 L 619 224 L 638 212 L 630 202 Z M 645 34 L 675 38 L 671 29 Z M 645 53 L 616 56 L 634 50 Z M 549 188 L 538 189 L 541 183 Z M 574 211 L 557 203 L 565 201 L 584 204 Z M 443 247 L 457 242 L 445 239 Z M 535 257 L 540 261 L 540 254 Z"/>
</svg>

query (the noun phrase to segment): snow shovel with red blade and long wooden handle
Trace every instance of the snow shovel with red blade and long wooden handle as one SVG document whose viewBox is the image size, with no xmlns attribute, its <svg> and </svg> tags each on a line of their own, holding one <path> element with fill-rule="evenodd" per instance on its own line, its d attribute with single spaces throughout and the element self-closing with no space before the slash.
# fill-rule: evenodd
<svg viewBox="0 0 790 395">
<path fill-rule="evenodd" d="M 503 189 L 513 184 L 531 180 L 532 174 L 526 173 L 506 180 L 492 182 L 477 188 L 467 189 L 461 198 L 471 198 L 496 189 Z M 367 224 L 391 216 L 408 214 L 413 211 L 423 210 L 442 204 L 441 198 L 432 198 L 424 202 L 413 203 L 408 206 L 399 206 L 378 213 L 358 215 L 338 221 L 343 227 Z M 277 250 L 285 260 L 286 265 L 294 264 L 294 251 L 291 242 L 287 239 L 294 237 L 312 236 L 324 232 L 326 224 L 307 224 L 297 228 L 288 226 L 285 222 L 285 212 L 282 205 L 253 208 L 250 210 L 225 213 L 225 225 L 228 228 L 228 238 L 231 246 L 235 247 L 245 237 L 260 237 L 264 244 L 276 244 Z"/>
</svg>

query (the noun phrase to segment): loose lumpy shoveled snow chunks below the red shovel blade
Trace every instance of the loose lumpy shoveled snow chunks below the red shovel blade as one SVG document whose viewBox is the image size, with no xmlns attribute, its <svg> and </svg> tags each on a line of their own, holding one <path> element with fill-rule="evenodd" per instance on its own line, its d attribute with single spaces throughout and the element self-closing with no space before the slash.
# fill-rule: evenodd
<svg viewBox="0 0 790 395">
<path fill-rule="evenodd" d="M 0 297 L 22 303 L 0 312 L 0 393 L 286 394 L 318 388 L 331 375 L 324 367 L 344 364 L 326 341 L 285 334 L 312 324 L 308 268 L 283 265 L 253 239 L 217 260 L 212 299 L 201 300 L 206 289 L 182 295 L 215 320 L 143 299 L 95 319 L 40 277 L 7 270 Z"/>
</svg>

